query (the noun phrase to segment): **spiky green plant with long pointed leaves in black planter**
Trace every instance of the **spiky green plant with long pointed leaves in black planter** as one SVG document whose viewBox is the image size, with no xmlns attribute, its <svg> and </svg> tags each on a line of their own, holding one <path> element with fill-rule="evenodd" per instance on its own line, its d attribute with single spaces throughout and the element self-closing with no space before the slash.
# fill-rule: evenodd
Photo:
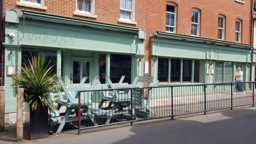
<svg viewBox="0 0 256 144">
<path fill-rule="evenodd" d="M 50 66 L 50 61 L 46 62 L 46 56 L 38 54 L 26 61 L 17 75 L 12 77 L 15 87 L 24 89 L 24 101 L 26 107 L 36 110 L 37 106 L 49 107 L 54 110 L 50 92 L 57 82 L 57 74 Z"/>
</svg>

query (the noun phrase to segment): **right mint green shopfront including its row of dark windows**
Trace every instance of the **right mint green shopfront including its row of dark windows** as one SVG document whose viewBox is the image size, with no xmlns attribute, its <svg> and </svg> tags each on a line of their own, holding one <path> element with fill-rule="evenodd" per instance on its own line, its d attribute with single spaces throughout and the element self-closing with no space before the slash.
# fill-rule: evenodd
<svg viewBox="0 0 256 144">
<path fill-rule="evenodd" d="M 250 81 L 252 45 L 155 31 L 151 75 L 161 85 L 234 82 L 241 67 Z"/>
</svg>

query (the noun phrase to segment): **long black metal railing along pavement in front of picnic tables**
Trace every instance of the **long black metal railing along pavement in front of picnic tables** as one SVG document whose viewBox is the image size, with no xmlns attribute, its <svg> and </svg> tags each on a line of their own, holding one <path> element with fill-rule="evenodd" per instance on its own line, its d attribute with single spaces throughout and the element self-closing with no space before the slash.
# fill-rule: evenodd
<svg viewBox="0 0 256 144">
<path fill-rule="evenodd" d="M 92 127 L 254 106 L 254 89 L 255 82 L 234 82 L 79 91 L 78 133 Z"/>
</svg>

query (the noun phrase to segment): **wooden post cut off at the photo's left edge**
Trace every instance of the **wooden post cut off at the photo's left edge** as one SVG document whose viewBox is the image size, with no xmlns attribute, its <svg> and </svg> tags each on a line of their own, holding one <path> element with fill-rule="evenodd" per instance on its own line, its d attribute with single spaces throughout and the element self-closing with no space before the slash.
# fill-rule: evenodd
<svg viewBox="0 0 256 144">
<path fill-rule="evenodd" d="M 4 86 L 0 86 L 0 131 L 4 131 Z"/>
</svg>

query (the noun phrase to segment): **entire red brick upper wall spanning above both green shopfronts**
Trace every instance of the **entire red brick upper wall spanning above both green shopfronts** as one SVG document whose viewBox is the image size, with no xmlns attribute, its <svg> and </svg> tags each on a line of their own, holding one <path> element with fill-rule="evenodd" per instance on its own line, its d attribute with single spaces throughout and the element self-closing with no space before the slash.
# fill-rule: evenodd
<svg viewBox="0 0 256 144">
<path fill-rule="evenodd" d="M 3 0 L 5 8 L 26 9 L 41 11 L 53 14 L 75 17 L 73 12 L 76 10 L 75 0 L 45 0 L 47 10 L 31 9 L 29 7 L 17 6 L 19 0 Z M 118 23 L 119 18 L 119 0 L 95 0 L 95 14 L 97 19 L 91 19 L 100 22 L 114 23 L 119 25 L 133 26 Z M 251 0 L 244 0 L 244 4 L 235 2 L 235 0 L 135 0 L 135 21 L 138 23 L 135 27 L 146 28 L 147 39 L 145 41 L 145 60 L 150 60 L 150 38 L 153 31 L 165 31 L 165 11 L 166 3 L 173 2 L 177 4 L 177 34 L 190 35 L 191 9 L 197 8 L 201 11 L 200 36 L 217 39 L 218 34 L 218 14 L 226 17 L 225 40 L 235 41 L 235 20 L 242 20 L 242 43 L 250 43 L 250 3 Z"/>
</svg>

